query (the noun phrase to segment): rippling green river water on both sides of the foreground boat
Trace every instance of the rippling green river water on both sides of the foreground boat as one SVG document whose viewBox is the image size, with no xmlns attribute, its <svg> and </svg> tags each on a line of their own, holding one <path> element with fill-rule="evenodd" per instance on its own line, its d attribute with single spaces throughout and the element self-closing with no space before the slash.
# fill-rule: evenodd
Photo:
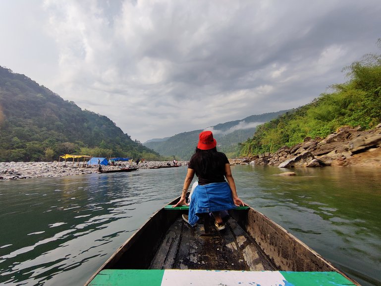
<svg viewBox="0 0 381 286">
<path fill-rule="evenodd" d="M 233 166 L 238 195 L 363 286 L 381 285 L 381 169 Z M 81 286 L 186 168 L 0 181 L 0 284 Z"/>
</svg>

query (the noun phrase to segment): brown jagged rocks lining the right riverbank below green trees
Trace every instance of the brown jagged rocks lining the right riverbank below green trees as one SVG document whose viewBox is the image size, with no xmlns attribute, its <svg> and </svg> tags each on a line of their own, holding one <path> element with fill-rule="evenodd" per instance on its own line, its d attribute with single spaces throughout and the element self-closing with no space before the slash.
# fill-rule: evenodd
<svg viewBox="0 0 381 286">
<path fill-rule="evenodd" d="M 306 138 L 293 147 L 250 158 L 254 165 L 280 168 L 322 166 L 381 166 L 381 124 L 360 131 L 341 127 L 323 140 Z"/>
</svg>

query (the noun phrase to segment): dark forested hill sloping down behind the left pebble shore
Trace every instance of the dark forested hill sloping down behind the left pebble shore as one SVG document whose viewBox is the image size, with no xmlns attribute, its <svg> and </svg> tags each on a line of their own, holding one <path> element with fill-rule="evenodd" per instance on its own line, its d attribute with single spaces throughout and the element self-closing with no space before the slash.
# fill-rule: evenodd
<svg viewBox="0 0 381 286">
<path fill-rule="evenodd" d="M 65 153 L 157 160 L 108 117 L 0 66 L 0 161 L 51 161 Z"/>
</svg>

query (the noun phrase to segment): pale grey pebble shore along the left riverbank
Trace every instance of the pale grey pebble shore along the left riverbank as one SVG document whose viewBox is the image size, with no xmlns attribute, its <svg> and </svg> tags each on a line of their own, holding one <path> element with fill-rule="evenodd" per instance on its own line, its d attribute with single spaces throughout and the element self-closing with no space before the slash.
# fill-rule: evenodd
<svg viewBox="0 0 381 286">
<path fill-rule="evenodd" d="M 121 166 L 102 166 L 103 170 L 117 170 L 119 168 L 126 168 L 127 164 L 123 162 Z M 165 166 L 167 163 L 173 165 L 169 161 L 150 161 L 139 163 L 136 166 L 133 163 L 134 168 L 150 169 L 152 167 Z M 181 166 L 186 166 L 186 161 L 178 161 Z M 86 166 L 81 163 L 72 162 L 0 162 L 0 180 L 15 180 L 26 178 L 38 178 L 38 177 L 62 177 L 79 174 L 91 174 L 98 173 L 98 166 Z"/>
</svg>

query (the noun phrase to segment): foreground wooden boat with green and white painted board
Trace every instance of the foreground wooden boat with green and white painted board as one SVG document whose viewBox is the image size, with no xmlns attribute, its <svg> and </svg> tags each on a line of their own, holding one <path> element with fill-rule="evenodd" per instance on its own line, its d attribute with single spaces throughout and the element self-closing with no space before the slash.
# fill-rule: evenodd
<svg viewBox="0 0 381 286">
<path fill-rule="evenodd" d="M 86 286 L 254 285 L 360 286 L 265 215 L 237 207 L 214 228 L 195 227 L 171 204 L 155 213 L 89 279 Z"/>
</svg>

